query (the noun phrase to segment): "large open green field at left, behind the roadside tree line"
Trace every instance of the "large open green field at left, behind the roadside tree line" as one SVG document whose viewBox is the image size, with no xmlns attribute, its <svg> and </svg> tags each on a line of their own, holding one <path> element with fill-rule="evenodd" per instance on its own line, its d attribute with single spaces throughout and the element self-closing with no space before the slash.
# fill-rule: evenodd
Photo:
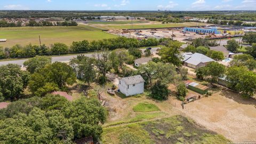
<svg viewBox="0 0 256 144">
<path fill-rule="evenodd" d="M 41 43 L 47 46 L 56 42 L 71 45 L 73 41 L 84 39 L 93 41 L 116 37 L 90 26 L 0 28 L 0 39 L 7 39 L 7 42 L 0 43 L 0 46 L 10 47 L 15 44 L 27 45 L 29 43 L 39 45 L 39 35 Z"/>
</svg>

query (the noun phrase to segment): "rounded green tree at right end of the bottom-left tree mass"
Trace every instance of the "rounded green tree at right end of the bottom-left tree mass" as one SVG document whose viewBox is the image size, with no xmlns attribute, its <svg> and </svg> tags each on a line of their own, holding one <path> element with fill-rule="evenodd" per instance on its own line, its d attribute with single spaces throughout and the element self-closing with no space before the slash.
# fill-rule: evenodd
<svg viewBox="0 0 256 144">
<path fill-rule="evenodd" d="M 99 124 L 106 122 L 106 111 L 100 102 L 95 99 L 78 99 L 63 111 L 70 119 L 76 139 L 90 137 L 99 138 L 102 127 Z"/>
</svg>

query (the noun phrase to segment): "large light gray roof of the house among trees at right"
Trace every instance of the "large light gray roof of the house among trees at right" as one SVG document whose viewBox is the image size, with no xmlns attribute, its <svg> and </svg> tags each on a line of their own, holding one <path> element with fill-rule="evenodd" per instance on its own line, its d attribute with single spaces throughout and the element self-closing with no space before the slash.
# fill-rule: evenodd
<svg viewBox="0 0 256 144">
<path fill-rule="evenodd" d="M 195 65 L 195 66 L 197 66 L 201 62 L 206 63 L 206 62 L 215 61 L 201 53 L 194 53 L 192 55 L 191 53 L 183 53 L 183 58 L 185 58 L 183 59 L 184 62 L 190 63 L 191 65 Z"/>
</svg>

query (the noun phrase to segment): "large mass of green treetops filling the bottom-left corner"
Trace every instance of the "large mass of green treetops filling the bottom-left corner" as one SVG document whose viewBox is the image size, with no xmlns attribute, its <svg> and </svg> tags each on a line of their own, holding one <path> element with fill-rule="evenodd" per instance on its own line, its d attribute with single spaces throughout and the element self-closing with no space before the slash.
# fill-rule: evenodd
<svg viewBox="0 0 256 144">
<path fill-rule="evenodd" d="M 50 94 L 14 102 L 5 113 L 0 121 L 2 143 L 74 143 L 91 136 L 98 140 L 106 121 L 106 110 L 96 99 L 67 102 Z"/>
</svg>

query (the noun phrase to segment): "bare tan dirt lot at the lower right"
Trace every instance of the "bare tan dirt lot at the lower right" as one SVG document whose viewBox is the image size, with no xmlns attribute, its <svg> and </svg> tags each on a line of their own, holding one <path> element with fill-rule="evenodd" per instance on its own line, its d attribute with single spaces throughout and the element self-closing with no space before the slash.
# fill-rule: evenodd
<svg viewBox="0 0 256 144">
<path fill-rule="evenodd" d="M 224 135 L 233 142 L 256 140 L 254 99 L 243 99 L 237 93 L 221 90 L 211 97 L 188 103 L 181 111 L 198 124 Z"/>
</svg>

